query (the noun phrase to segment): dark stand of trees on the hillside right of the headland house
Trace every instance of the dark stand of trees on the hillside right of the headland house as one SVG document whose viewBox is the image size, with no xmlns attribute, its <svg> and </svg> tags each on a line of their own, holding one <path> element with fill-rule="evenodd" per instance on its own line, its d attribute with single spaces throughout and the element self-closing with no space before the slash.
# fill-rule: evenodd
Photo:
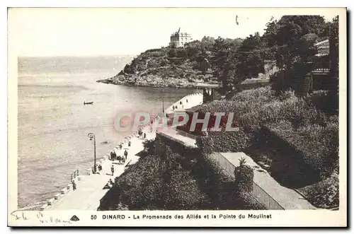
<svg viewBox="0 0 354 234">
<path fill-rule="evenodd" d="M 266 27 L 263 36 L 255 33 L 246 37 L 236 51 L 228 48 L 227 40 L 215 40 L 214 62 L 219 65 L 215 74 L 219 75 L 224 90 L 263 73 L 265 59 L 277 61 L 277 66 L 284 70 L 279 74 L 286 74 L 290 81 L 282 88 L 291 88 L 292 81 L 298 83 L 306 75 L 300 70 L 311 69 L 309 64 L 316 54 L 314 43 L 326 36 L 329 25 L 322 16 L 283 16 L 279 21 L 268 22 Z"/>
</svg>

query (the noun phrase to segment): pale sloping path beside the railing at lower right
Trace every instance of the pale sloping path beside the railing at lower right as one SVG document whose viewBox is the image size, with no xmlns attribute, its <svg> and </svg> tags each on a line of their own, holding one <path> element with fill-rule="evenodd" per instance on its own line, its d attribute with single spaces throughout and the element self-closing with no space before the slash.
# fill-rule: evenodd
<svg viewBox="0 0 354 234">
<path fill-rule="evenodd" d="M 253 181 L 267 192 L 270 197 L 273 197 L 280 206 L 285 210 L 287 209 L 316 209 L 312 206 L 304 197 L 295 192 L 294 189 L 288 189 L 283 187 L 276 180 L 269 175 L 269 173 L 263 170 L 253 159 L 246 155 L 246 153 L 220 153 L 224 158 L 227 158 L 232 165 L 239 166 L 239 159 L 245 158 L 246 165 L 253 168 L 254 177 Z"/>
</svg>

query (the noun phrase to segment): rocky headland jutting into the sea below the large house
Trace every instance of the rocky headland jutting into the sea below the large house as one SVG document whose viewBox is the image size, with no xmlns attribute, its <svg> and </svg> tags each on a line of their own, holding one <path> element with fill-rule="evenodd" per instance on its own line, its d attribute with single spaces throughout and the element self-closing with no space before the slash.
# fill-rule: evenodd
<svg viewBox="0 0 354 234">
<path fill-rule="evenodd" d="M 219 86 L 206 53 L 195 48 L 149 49 L 116 76 L 98 80 L 127 86 L 194 88 Z"/>
</svg>

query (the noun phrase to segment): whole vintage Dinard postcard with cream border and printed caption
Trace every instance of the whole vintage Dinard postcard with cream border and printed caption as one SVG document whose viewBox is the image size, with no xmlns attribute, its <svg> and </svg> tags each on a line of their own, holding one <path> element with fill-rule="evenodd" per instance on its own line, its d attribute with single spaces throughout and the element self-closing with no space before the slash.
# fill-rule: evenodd
<svg viewBox="0 0 354 234">
<path fill-rule="evenodd" d="M 8 8 L 8 226 L 347 226 L 346 8 Z"/>
</svg>

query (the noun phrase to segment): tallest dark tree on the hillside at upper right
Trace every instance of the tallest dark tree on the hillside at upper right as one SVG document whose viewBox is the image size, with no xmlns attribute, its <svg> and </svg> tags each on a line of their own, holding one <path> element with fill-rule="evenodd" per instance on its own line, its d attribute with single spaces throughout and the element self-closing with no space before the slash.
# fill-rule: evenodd
<svg viewBox="0 0 354 234">
<path fill-rule="evenodd" d="M 267 24 L 263 40 L 267 47 L 275 48 L 274 57 L 280 68 L 270 79 L 277 93 L 301 87 L 316 60 L 314 44 L 324 37 L 326 27 L 322 16 L 283 16 L 280 21 Z"/>
</svg>

